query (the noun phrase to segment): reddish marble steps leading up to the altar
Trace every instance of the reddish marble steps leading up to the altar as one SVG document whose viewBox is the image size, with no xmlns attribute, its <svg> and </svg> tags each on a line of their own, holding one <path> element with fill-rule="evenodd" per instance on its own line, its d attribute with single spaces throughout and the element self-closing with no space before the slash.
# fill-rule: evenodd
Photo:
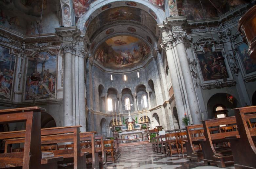
<svg viewBox="0 0 256 169">
<path fill-rule="evenodd" d="M 152 144 L 149 141 L 120 144 L 121 155 L 152 152 Z"/>
</svg>

